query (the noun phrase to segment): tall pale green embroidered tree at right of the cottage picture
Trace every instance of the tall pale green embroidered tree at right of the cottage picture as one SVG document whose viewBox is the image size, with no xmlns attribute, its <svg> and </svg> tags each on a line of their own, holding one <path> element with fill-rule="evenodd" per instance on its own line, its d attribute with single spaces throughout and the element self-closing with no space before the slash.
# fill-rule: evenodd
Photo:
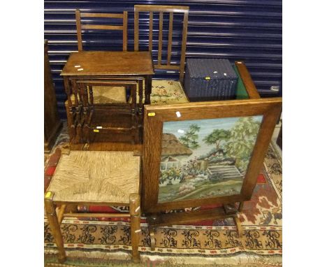
<svg viewBox="0 0 327 267">
<path fill-rule="evenodd" d="M 236 159 L 235 166 L 245 172 L 252 155 L 260 122 L 253 117 L 241 117 L 231 129 L 231 136 L 224 146 L 226 154 Z"/>
</svg>

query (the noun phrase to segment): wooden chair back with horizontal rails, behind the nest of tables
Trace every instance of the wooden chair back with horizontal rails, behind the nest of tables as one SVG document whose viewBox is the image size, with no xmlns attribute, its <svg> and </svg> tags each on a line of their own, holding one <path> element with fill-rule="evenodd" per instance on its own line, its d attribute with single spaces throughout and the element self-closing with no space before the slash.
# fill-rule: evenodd
<svg viewBox="0 0 327 267">
<path fill-rule="evenodd" d="M 128 24 L 128 13 L 124 11 L 120 14 L 114 13 L 81 13 L 80 10 L 76 10 L 76 30 L 78 36 L 78 51 L 83 50 L 82 46 L 82 30 L 85 29 L 108 29 L 108 30 L 120 30 L 123 32 L 123 51 L 127 51 L 127 24 Z M 122 25 L 99 25 L 99 24 L 82 24 L 82 17 L 106 17 L 106 18 L 117 18 L 122 19 Z"/>
</svg>

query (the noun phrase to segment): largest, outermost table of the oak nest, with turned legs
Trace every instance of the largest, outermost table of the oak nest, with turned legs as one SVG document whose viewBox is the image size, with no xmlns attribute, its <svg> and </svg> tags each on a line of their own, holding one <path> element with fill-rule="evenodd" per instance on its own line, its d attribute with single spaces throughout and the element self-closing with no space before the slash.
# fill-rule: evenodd
<svg viewBox="0 0 327 267">
<path fill-rule="evenodd" d="M 68 97 L 68 127 L 71 139 L 76 136 L 76 126 L 73 117 L 81 112 L 81 108 L 73 105 L 71 95 L 75 94 L 77 80 L 117 79 L 121 81 L 137 80 L 139 94 L 143 94 L 145 82 L 145 104 L 150 104 L 152 75 L 154 68 L 151 52 L 109 52 L 109 51 L 80 51 L 71 53 L 61 75 L 64 76 L 64 86 Z M 140 78 L 142 78 L 140 80 Z M 138 116 L 143 117 L 143 103 L 138 103 Z M 142 107 L 140 107 L 142 106 Z M 142 120 L 140 120 L 142 122 Z"/>
</svg>

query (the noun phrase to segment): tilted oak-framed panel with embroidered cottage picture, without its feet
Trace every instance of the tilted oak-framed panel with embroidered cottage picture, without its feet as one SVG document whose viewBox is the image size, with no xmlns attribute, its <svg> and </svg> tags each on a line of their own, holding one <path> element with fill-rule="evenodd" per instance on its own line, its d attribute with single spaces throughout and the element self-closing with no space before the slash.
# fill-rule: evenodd
<svg viewBox="0 0 327 267">
<path fill-rule="evenodd" d="M 145 106 L 143 211 L 249 201 L 281 98 Z"/>
</svg>

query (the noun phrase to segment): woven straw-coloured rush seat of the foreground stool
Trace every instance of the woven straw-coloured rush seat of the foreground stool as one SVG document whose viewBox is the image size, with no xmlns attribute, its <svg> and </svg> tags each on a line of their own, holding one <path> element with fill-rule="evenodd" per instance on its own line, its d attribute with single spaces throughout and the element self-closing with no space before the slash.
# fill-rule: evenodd
<svg viewBox="0 0 327 267">
<path fill-rule="evenodd" d="M 48 192 L 53 201 L 129 203 L 139 179 L 140 157 L 133 152 L 71 151 L 61 155 Z"/>
</svg>

